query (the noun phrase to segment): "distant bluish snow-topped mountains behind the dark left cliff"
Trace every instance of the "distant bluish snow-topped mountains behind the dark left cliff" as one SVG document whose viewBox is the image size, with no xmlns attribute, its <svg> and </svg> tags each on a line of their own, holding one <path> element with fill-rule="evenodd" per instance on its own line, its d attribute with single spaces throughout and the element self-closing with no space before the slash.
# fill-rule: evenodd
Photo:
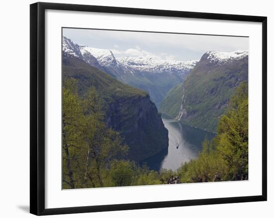
<svg viewBox="0 0 274 218">
<path fill-rule="evenodd" d="M 110 74 L 125 84 L 145 90 L 156 104 L 175 85 L 183 82 L 197 61 L 159 60 L 155 57 L 117 59 L 110 50 L 79 46 L 63 37 L 63 52 Z"/>
</svg>

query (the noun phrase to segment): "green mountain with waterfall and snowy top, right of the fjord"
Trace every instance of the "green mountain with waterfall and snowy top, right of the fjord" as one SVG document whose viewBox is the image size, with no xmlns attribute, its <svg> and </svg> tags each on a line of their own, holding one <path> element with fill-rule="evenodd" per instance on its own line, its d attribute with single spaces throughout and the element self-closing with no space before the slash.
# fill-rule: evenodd
<svg viewBox="0 0 274 218">
<path fill-rule="evenodd" d="M 159 110 L 182 123 L 216 132 L 230 97 L 248 80 L 247 51 L 207 52 L 184 82 L 172 88 Z"/>
</svg>

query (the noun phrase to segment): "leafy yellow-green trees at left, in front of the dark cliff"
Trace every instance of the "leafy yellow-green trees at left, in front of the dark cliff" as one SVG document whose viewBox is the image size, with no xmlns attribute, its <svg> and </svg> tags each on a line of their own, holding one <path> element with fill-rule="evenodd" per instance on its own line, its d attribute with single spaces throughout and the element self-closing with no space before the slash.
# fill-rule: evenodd
<svg viewBox="0 0 274 218">
<path fill-rule="evenodd" d="M 106 126 L 96 89 L 81 99 L 77 85 L 64 79 L 62 89 L 63 188 L 103 187 L 110 162 L 126 155 L 128 146 Z"/>
</svg>

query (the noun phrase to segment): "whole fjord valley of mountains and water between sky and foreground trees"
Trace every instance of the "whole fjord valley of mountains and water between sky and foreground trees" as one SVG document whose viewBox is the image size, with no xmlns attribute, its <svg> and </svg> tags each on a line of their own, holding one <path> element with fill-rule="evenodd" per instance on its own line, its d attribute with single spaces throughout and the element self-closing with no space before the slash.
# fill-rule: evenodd
<svg viewBox="0 0 274 218">
<path fill-rule="evenodd" d="M 107 127 L 129 145 L 127 158 L 156 171 L 196 159 L 248 79 L 247 51 L 206 52 L 199 61 L 116 58 L 63 37 L 62 52 L 63 76 L 77 80 L 80 96 L 96 88 Z"/>
</svg>

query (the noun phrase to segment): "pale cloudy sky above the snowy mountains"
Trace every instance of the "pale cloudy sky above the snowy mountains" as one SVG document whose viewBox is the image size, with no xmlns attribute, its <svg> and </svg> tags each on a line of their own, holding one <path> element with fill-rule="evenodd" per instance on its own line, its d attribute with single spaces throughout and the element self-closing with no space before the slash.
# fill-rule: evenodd
<svg viewBox="0 0 274 218">
<path fill-rule="evenodd" d="M 147 33 L 63 28 L 63 36 L 79 45 L 109 49 L 118 57 L 155 56 L 179 61 L 199 60 L 207 51 L 248 50 L 246 37 Z"/>
</svg>

